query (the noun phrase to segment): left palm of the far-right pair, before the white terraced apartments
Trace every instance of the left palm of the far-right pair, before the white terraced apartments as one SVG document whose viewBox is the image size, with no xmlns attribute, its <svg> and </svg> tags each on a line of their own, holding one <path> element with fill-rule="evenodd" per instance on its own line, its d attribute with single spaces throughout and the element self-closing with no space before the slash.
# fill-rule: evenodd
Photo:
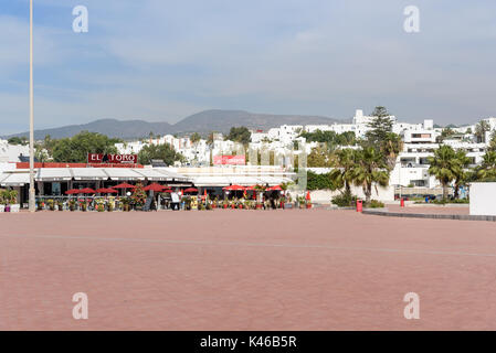
<svg viewBox="0 0 496 353">
<path fill-rule="evenodd" d="M 455 150 L 446 145 L 434 151 L 434 157 L 429 158 L 429 173 L 434 175 L 443 186 L 443 200 L 447 199 L 447 186 L 456 179 L 458 162 Z"/>
</svg>

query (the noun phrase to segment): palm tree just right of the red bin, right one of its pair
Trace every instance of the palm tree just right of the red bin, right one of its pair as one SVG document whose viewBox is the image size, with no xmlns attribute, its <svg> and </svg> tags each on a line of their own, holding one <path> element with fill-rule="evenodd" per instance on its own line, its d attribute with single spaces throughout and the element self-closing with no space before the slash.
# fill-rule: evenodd
<svg viewBox="0 0 496 353">
<path fill-rule="evenodd" d="M 353 184 L 361 185 L 366 195 L 366 203 L 370 203 L 372 185 L 387 186 L 389 184 L 389 169 L 383 154 L 373 147 L 365 147 L 356 151 L 356 163 L 352 169 Z"/>
</svg>

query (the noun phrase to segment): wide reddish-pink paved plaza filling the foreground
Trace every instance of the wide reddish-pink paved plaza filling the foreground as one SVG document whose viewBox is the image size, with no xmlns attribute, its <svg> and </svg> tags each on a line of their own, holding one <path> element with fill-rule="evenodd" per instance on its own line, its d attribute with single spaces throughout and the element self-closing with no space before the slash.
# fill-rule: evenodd
<svg viewBox="0 0 496 353">
<path fill-rule="evenodd" d="M 496 329 L 496 224 L 352 211 L 0 214 L 1 330 Z M 72 318 L 86 292 L 89 319 Z M 403 318 L 419 293 L 420 320 Z"/>
</svg>

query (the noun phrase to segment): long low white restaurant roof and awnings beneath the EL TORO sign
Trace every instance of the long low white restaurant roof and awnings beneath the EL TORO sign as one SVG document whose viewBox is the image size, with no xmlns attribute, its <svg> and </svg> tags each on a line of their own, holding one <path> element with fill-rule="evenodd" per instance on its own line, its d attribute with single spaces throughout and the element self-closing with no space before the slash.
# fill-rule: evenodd
<svg viewBox="0 0 496 353">
<path fill-rule="evenodd" d="M 13 168 L 13 165 L 15 165 Z M 65 196 L 71 189 L 112 188 L 127 182 L 160 183 L 183 189 L 194 186 L 200 194 L 223 195 L 229 185 L 274 186 L 295 179 L 295 173 L 275 165 L 222 165 L 202 168 L 152 168 L 140 164 L 118 163 L 35 163 L 34 181 L 36 197 Z M 18 191 L 18 203 L 28 207 L 29 163 L 10 163 L 0 170 L 0 186 Z"/>
</svg>

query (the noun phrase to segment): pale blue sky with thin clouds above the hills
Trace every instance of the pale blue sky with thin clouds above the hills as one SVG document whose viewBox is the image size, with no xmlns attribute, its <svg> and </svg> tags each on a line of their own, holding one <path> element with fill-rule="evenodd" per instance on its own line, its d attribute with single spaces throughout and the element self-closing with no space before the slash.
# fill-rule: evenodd
<svg viewBox="0 0 496 353">
<path fill-rule="evenodd" d="M 73 8 L 88 32 L 73 31 Z M 419 9 L 408 33 L 404 9 Z M 496 116 L 494 0 L 34 0 L 35 128 L 204 109 Z M 0 0 L 0 136 L 29 129 L 29 0 Z"/>
</svg>

